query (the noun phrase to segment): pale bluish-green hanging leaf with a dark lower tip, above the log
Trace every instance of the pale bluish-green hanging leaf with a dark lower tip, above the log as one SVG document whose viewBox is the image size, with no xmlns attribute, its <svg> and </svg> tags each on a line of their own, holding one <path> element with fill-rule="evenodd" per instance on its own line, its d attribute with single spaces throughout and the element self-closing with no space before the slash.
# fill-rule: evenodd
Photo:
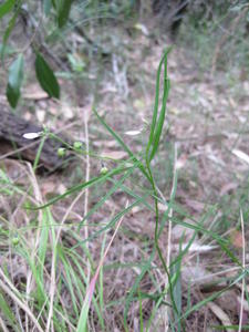
<svg viewBox="0 0 249 332">
<path fill-rule="evenodd" d="M 14 60 L 9 69 L 7 97 L 12 107 L 15 107 L 20 97 L 20 89 L 23 80 L 23 54 Z"/>
</svg>

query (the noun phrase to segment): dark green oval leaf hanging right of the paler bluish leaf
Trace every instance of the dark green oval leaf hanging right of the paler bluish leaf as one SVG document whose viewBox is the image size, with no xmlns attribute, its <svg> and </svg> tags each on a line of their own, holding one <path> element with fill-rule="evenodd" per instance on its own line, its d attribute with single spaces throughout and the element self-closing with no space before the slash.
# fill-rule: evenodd
<svg viewBox="0 0 249 332">
<path fill-rule="evenodd" d="M 39 53 L 35 59 L 35 73 L 41 87 L 49 94 L 49 96 L 59 98 L 60 86 L 58 80 L 52 69 Z"/>
</svg>

